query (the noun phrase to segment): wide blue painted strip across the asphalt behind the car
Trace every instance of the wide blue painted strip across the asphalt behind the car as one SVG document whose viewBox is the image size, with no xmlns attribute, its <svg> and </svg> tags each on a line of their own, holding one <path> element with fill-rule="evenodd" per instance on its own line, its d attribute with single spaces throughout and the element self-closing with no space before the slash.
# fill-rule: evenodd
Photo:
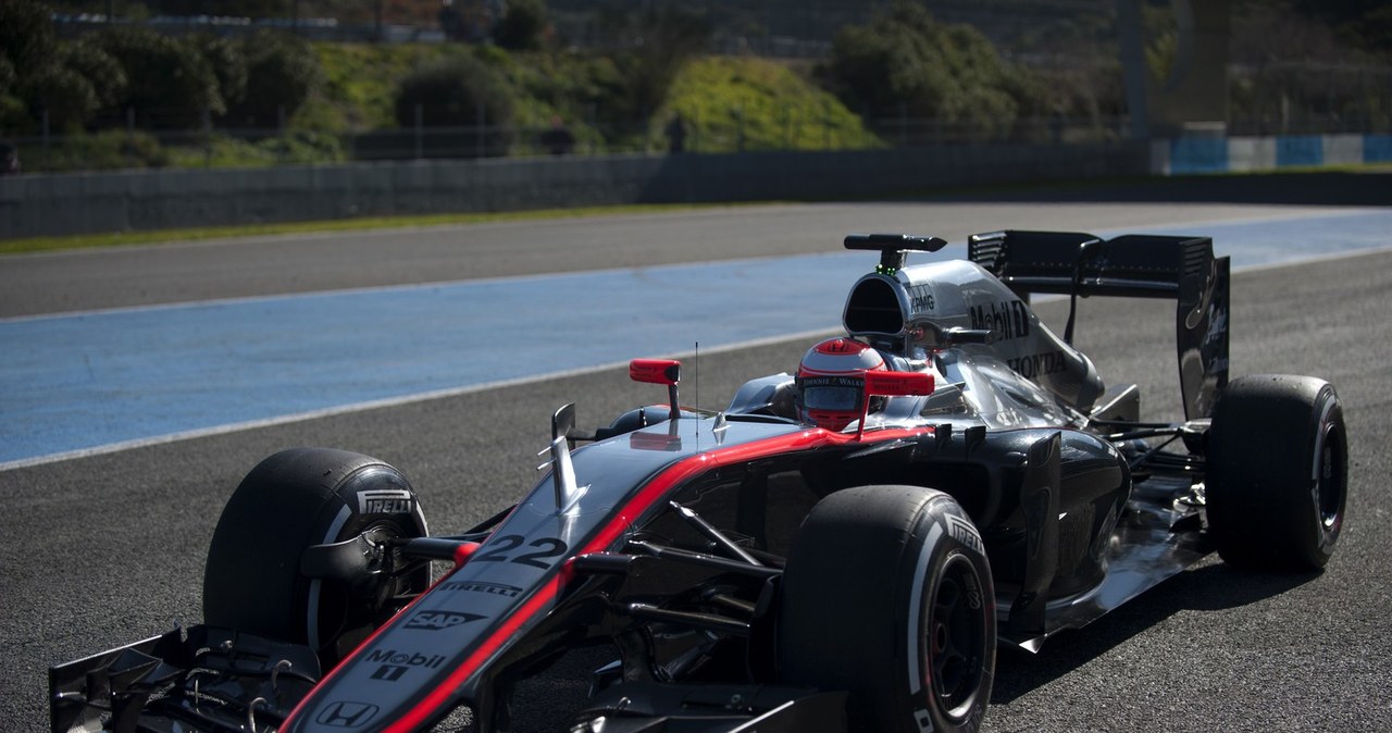
<svg viewBox="0 0 1392 733">
<path fill-rule="evenodd" d="M 1392 246 L 1392 210 L 1147 231 L 1214 236 L 1236 267 L 1279 266 Z M 697 342 L 717 351 L 799 334 L 810 341 L 839 320 L 864 257 L 768 257 L 0 320 L 0 349 L 10 355 L 0 364 L 0 470 L 589 373 L 632 356 L 690 352 Z M 68 399 L 60 403 L 60 395 Z"/>
</svg>

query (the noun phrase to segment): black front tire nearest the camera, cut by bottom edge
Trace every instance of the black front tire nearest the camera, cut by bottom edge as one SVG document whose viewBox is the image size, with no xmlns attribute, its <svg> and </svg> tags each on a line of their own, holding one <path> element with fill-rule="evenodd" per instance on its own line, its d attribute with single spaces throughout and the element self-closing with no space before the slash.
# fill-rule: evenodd
<svg viewBox="0 0 1392 733">
<path fill-rule="evenodd" d="M 780 680 L 849 691 L 852 730 L 977 730 L 995 673 L 980 534 L 941 491 L 828 495 L 789 549 L 777 638 Z"/>
</svg>

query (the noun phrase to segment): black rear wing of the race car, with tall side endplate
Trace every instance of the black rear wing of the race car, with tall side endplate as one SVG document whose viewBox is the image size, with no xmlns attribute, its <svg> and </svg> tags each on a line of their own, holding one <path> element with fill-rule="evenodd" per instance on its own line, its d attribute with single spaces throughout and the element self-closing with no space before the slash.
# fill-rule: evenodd
<svg viewBox="0 0 1392 733">
<path fill-rule="evenodd" d="M 1228 257 L 1208 236 L 998 231 L 967 238 L 967 257 L 1016 295 L 1068 295 L 1065 341 L 1073 339 L 1077 298 L 1173 299 L 1175 345 L 1185 416 L 1207 417 L 1228 384 Z"/>
</svg>

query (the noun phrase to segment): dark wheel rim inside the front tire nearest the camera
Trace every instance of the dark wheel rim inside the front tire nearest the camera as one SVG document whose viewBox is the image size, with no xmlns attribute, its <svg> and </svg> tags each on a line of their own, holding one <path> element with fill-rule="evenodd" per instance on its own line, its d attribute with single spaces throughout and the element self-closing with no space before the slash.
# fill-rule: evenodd
<svg viewBox="0 0 1392 733">
<path fill-rule="evenodd" d="M 981 579 L 965 555 L 944 563 L 926 631 L 927 688 L 940 711 L 960 720 L 981 690 L 987 644 Z"/>
</svg>

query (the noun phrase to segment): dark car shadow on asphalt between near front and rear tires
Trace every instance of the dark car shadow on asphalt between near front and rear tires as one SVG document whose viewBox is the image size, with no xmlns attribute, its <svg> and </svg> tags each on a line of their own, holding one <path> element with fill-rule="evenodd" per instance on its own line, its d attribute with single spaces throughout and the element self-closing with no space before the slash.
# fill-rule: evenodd
<svg viewBox="0 0 1392 733">
<path fill-rule="evenodd" d="M 1224 611 L 1281 595 L 1320 573 L 1257 573 L 1221 562 L 1180 573 L 1084 629 L 1050 638 L 1038 654 L 997 651 L 991 704 L 1004 705 L 1107 654 L 1180 611 Z"/>
</svg>

